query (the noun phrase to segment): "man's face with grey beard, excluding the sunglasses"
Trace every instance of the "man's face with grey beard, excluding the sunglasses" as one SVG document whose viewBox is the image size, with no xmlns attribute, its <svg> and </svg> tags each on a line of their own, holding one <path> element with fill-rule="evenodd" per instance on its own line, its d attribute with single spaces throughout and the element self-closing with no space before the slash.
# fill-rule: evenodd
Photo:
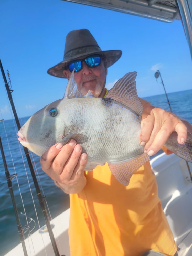
<svg viewBox="0 0 192 256">
<path fill-rule="evenodd" d="M 64 75 L 69 80 L 71 72 L 69 69 L 63 71 Z M 78 72 L 74 73 L 74 79 L 77 83 L 78 90 L 86 95 L 90 90 L 91 93 L 98 97 L 106 82 L 107 69 L 105 68 L 104 61 L 101 60 L 101 64 L 95 67 L 88 67 L 83 61 L 82 68 Z"/>
</svg>

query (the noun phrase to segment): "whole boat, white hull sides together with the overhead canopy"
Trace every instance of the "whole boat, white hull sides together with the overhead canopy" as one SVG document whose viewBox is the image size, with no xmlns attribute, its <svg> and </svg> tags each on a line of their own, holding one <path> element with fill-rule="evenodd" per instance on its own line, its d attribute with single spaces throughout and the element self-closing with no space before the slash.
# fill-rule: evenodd
<svg viewBox="0 0 192 256">
<path fill-rule="evenodd" d="M 68 0 L 64 0 L 68 1 Z M 174 22 L 181 20 L 192 57 L 192 4 L 190 0 L 70 0 L 86 5 L 106 8 L 129 15 Z M 159 154 L 150 160 L 159 187 L 159 198 L 178 246 L 179 256 L 192 255 L 192 178 L 186 161 L 174 154 Z M 162 186 L 163 184 L 163 186 Z M 186 207 L 187 206 L 187 207 Z M 68 223 L 70 209 L 51 220 L 51 227 L 60 255 L 70 256 Z M 62 221 L 62 227 L 60 225 Z M 33 241 L 33 244 L 32 244 Z M 28 255 L 54 256 L 47 226 L 42 226 L 25 239 Z M 4 256 L 25 255 L 18 244 Z"/>
</svg>

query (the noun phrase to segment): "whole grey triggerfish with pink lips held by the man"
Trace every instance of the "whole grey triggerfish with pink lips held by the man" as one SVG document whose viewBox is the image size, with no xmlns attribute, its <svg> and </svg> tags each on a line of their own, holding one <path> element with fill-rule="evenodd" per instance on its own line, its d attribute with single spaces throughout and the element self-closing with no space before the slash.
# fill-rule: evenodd
<svg viewBox="0 0 192 256">
<path fill-rule="evenodd" d="M 149 161 L 139 143 L 143 105 L 137 95 L 136 75 L 135 71 L 127 73 L 105 98 L 98 98 L 90 91 L 87 95 L 78 91 L 73 71 L 64 97 L 33 114 L 18 131 L 18 140 L 42 156 L 50 146 L 74 139 L 88 155 L 85 170 L 107 162 L 115 178 L 127 186 L 136 170 Z M 180 145 L 173 132 L 165 146 L 192 162 L 192 134 Z"/>
</svg>

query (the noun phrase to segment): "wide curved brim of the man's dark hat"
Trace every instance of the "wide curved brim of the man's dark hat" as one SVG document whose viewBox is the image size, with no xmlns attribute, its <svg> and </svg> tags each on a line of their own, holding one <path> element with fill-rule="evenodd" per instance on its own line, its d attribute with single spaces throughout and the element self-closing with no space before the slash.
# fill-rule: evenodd
<svg viewBox="0 0 192 256">
<path fill-rule="evenodd" d="M 86 55 L 80 55 L 76 56 L 76 58 L 71 59 L 71 60 L 66 60 L 66 61 L 61 61 L 57 65 L 53 66 L 52 68 L 49 68 L 47 70 L 47 73 L 55 76 L 55 77 L 61 77 L 61 78 L 66 78 L 66 76 L 63 74 L 63 70 L 66 68 L 67 64 L 70 61 L 73 61 L 75 59 L 82 59 L 83 57 L 92 55 L 92 54 L 102 54 L 107 62 L 107 68 L 113 65 L 122 55 L 121 50 L 111 50 L 111 51 L 99 51 L 99 52 L 89 52 L 89 54 Z"/>
</svg>

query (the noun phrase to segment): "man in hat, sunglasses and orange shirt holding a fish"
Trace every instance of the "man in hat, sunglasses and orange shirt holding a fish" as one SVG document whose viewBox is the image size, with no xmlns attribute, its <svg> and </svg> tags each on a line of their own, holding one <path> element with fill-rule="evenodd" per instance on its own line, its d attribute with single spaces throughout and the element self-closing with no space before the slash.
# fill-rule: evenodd
<svg viewBox="0 0 192 256">
<path fill-rule="evenodd" d="M 82 94 L 91 90 L 95 97 L 105 97 L 107 68 L 120 57 L 120 50 L 101 51 L 88 30 L 74 30 L 66 37 L 64 60 L 48 73 L 69 79 L 75 69 L 74 79 Z M 178 143 L 185 143 L 187 128 L 180 119 L 141 102 L 144 110 L 140 143 L 144 152 L 155 154 L 173 131 L 178 133 Z M 42 169 L 70 194 L 71 256 L 177 255 L 150 163 L 135 172 L 128 186 L 123 186 L 107 163 L 93 172 L 84 171 L 88 157 L 81 152 L 81 145 L 71 139 L 65 146 L 52 146 L 41 157 Z"/>
</svg>

